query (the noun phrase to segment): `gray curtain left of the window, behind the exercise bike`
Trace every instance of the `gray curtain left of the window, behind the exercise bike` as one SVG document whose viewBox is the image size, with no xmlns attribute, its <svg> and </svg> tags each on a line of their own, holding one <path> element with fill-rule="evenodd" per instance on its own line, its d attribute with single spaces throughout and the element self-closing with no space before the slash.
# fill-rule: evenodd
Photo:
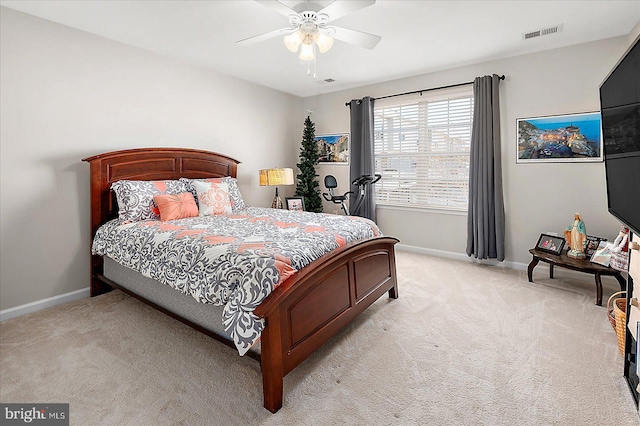
<svg viewBox="0 0 640 426">
<path fill-rule="evenodd" d="M 353 181 L 358 176 L 375 173 L 375 157 L 373 152 L 373 99 L 366 97 L 351 101 L 351 147 L 349 148 L 349 176 Z M 349 196 L 349 210 L 354 216 L 362 216 L 376 220 L 375 189 L 367 188 L 367 197 L 357 211 L 358 187 L 351 185 L 355 194 Z"/>
</svg>

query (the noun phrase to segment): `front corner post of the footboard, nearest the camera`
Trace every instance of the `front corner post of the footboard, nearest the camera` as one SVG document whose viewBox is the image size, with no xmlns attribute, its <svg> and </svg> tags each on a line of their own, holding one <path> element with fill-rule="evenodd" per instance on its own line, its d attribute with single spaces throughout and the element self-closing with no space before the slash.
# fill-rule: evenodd
<svg viewBox="0 0 640 426">
<path fill-rule="evenodd" d="M 279 309 L 272 311 L 265 318 L 266 326 L 260 339 L 264 408 L 272 413 L 282 408 L 284 368 L 280 319 Z"/>
</svg>

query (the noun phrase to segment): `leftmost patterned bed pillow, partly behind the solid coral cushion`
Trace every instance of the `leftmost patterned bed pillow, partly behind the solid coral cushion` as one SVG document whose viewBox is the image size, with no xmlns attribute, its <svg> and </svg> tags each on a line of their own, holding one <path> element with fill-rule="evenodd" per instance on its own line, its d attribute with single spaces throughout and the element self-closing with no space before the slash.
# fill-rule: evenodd
<svg viewBox="0 0 640 426">
<path fill-rule="evenodd" d="M 160 211 L 153 202 L 154 195 L 188 192 L 187 185 L 179 180 L 119 180 L 111 184 L 118 200 L 120 223 L 160 219 Z"/>
</svg>

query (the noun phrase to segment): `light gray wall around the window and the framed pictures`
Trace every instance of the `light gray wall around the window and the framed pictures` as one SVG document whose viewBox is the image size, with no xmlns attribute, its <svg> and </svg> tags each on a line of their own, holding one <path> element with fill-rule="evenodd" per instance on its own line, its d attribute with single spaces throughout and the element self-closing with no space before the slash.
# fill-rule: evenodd
<svg viewBox="0 0 640 426">
<path fill-rule="evenodd" d="M 562 233 L 580 212 L 587 232 L 614 238 L 619 223 L 607 212 L 604 163 L 516 164 L 516 119 L 519 117 L 598 111 L 598 88 L 627 49 L 628 37 L 586 43 L 541 53 L 456 68 L 306 98 L 313 110 L 316 134 L 349 131 L 345 102 L 473 81 L 486 74 L 505 74 L 500 85 L 502 166 L 506 214 L 505 255 L 528 263 L 528 249 L 541 232 Z M 428 58 L 425 58 L 428 61 Z M 334 174 L 346 191 L 348 168 L 321 166 L 320 180 Z M 457 254 L 466 249 L 466 215 L 426 213 L 379 207 L 378 224 L 401 243 Z"/>
</svg>

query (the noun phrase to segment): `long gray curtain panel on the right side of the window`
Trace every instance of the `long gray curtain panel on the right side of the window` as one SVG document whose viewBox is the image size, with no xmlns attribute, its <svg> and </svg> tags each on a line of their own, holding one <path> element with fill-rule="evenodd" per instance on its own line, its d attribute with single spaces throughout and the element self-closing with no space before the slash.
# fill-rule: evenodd
<svg viewBox="0 0 640 426">
<path fill-rule="evenodd" d="M 475 106 L 469 164 L 467 255 L 504 260 L 504 200 L 497 75 L 473 82 Z"/>
</svg>

